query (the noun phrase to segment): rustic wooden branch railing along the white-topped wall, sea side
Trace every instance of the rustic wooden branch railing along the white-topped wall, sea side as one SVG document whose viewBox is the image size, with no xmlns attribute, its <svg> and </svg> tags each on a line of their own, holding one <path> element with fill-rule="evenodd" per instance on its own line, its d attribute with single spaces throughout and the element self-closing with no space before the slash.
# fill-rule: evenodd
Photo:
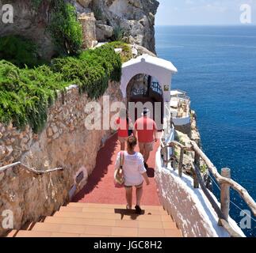
<svg viewBox="0 0 256 253">
<path fill-rule="evenodd" d="M 169 157 L 168 148 L 174 149 L 178 147 L 180 149 L 180 157 L 178 158 L 173 154 Z M 219 217 L 219 224 L 223 226 L 226 231 L 230 234 L 231 237 L 241 237 L 238 232 L 228 223 L 229 210 L 230 210 L 230 187 L 239 193 L 241 198 L 246 202 L 247 206 L 250 207 L 250 210 L 256 215 L 256 203 L 254 199 L 251 198 L 250 194 L 244 187 L 239 183 L 236 183 L 230 178 L 231 172 L 229 168 L 223 168 L 221 174 L 217 171 L 217 168 L 212 164 L 212 161 L 204 154 L 204 152 L 199 148 L 197 142 L 191 141 L 191 146 L 182 145 L 179 142 L 170 142 L 168 144 L 161 143 L 161 153 L 162 160 L 165 165 L 168 165 L 170 162 L 176 160 L 178 161 L 178 175 L 182 177 L 183 174 L 183 157 L 185 151 L 193 151 L 195 153 L 194 162 L 192 164 L 191 172 L 193 175 L 194 188 L 199 188 L 204 192 L 205 196 L 208 198 L 208 201 L 211 203 L 212 208 L 215 210 L 217 216 Z M 212 176 L 216 179 L 217 183 L 220 184 L 220 206 L 216 200 L 212 197 L 212 194 L 208 191 L 207 187 L 204 184 L 204 180 L 201 176 L 200 170 L 200 160 L 203 160 L 207 165 L 209 172 L 212 173 Z"/>
</svg>

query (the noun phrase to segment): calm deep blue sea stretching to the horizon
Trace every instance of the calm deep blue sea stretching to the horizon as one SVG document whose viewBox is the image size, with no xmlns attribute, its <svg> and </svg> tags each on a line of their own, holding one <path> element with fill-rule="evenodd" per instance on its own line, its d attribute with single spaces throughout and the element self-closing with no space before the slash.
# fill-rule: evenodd
<svg viewBox="0 0 256 253">
<path fill-rule="evenodd" d="M 172 89 L 185 90 L 197 112 L 204 152 L 256 200 L 256 26 L 159 26 L 156 50 L 178 68 Z M 220 195 L 215 187 L 214 193 Z M 248 207 L 231 191 L 231 217 Z M 236 205 L 236 206 L 235 206 Z M 251 217 L 256 217 L 251 213 Z M 243 230 L 256 236 L 256 222 Z"/>
</svg>

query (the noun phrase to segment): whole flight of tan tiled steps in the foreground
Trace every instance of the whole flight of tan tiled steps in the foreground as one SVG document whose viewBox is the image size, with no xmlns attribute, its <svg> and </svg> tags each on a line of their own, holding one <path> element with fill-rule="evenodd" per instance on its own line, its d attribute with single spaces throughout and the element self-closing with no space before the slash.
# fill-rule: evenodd
<svg viewBox="0 0 256 253">
<path fill-rule="evenodd" d="M 13 230 L 9 237 L 181 237 L 161 206 L 144 206 L 144 213 L 123 205 L 70 203 L 28 230 Z"/>
</svg>

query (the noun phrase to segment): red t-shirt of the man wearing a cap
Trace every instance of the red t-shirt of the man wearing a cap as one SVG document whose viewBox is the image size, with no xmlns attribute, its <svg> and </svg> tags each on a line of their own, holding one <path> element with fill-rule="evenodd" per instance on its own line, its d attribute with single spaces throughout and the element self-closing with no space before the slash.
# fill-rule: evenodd
<svg viewBox="0 0 256 253">
<path fill-rule="evenodd" d="M 154 132 L 157 130 L 153 119 L 142 117 L 137 119 L 134 128 L 138 131 L 138 140 L 143 143 L 154 141 Z"/>
</svg>

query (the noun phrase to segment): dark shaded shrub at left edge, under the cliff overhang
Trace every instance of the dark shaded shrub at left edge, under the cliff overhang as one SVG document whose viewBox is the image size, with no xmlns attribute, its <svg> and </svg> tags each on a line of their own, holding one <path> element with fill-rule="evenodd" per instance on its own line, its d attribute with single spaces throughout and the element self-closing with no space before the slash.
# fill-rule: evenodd
<svg viewBox="0 0 256 253">
<path fill-rule="evenodd" d="M 0 38 L 0 59 L 25 67 L 39 65 L 42 60 L 37 55 L 36 44 L 22 36 L 4 36 Z"/>
</svg>

